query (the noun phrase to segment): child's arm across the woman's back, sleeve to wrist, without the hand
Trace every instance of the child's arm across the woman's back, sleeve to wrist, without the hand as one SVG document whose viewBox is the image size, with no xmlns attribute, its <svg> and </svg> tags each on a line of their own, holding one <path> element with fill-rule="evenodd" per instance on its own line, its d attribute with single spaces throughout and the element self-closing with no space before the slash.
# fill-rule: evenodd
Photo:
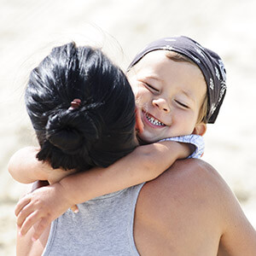
<svg viewBox="0 0 256 256">
<path fill-rule="evenodd" d="M 65 177 L 60 184 L 68 191 L 69 201 L 79 204 L 158 177 L 175 160 L 186 158 L 191 152 L 189 147 L 177 142 L 140 146 L 112 166 Z"/>
</svg>

